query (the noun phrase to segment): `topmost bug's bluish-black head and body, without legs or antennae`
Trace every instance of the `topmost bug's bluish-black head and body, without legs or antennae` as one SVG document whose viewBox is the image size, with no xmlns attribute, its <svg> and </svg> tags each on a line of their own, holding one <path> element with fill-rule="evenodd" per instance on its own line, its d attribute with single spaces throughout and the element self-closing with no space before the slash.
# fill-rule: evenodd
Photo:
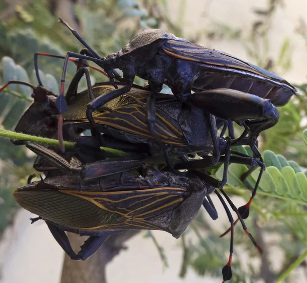
<svg viewBox="0 0 307 283">
<path fill-rule="evenodd" d="M 145 29 L 118 53 L 104 59 L 104 69 L 120 69 L 124 77 L 168 85 L 182 100 L 191 91 L 232 89 L 286 104 L 294 87 L 281 77 L 230 54 L 195 45 L 159 29 Z"/>
</svg>

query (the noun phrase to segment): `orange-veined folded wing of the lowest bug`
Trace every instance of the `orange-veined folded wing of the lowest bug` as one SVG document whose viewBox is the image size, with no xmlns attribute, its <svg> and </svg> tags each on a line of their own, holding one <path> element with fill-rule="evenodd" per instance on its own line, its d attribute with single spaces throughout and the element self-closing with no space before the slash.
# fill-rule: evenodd
<svg viewBox="0 0 307 283">
<path fill-rule="evenodd" d="M 90 231 L 160 229 L 146 219 L 172 211 L 186 195 L 177 187 L 107 192 L 56 190 L 40 182 L 31 187 L 13 193 L 21 207 L 59 225 Z"/>
</svg>

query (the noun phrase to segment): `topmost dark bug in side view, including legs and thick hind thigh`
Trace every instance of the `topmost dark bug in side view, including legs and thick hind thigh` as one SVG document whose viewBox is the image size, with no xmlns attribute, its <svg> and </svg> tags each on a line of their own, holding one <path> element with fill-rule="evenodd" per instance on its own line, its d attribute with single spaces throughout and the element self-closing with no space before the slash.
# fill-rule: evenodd
<svg viewBox="0 0 307 283">
<path fill-rule="evenodd" d="M 100 135 L 101 129 L 93 117 L 93 112 L 103 105 L 106 106 L 108 101 L 126 94 L 132 88 L 135 76 L 146 79 L 150 91 L 147 96 L 145 125 L 150 136 L 156 140 L 156 144 L 162 150 L 167 165 L 171 168 L 172 162 L 165 148 L 165 143 L 155 128 L 155 120 L 157 119 L 155 99 L 162 90 L 163 84 L 167 84 L 171 88 L 178 100 L 205 110 L 210 115 L 230 120 L 230 124 L 232 121 L 242 123 L 248 120 L 248 122 L 242 123 L 245 130 L 236 142 L 250 145 L 260 161 L 261 156 L 255 146 L 257 137 L 262 130 L 277 122 L 278 113 L 269 100 L 259 99 L 259 97 L 269 98 L 273 104 L 280 106 L 286 104 L 295 93 L 291 84 L 273 73 L 229 54 L 194 45 L 183 38 L 158 29 L 145 29 L 131 39 L 118 53 L 101 58 L 76 31 L 63 20 L 60 19 L 60 21 L 85 47 L 80 54 L 68 52 L 65 58 L 61 95 L 56 101 L 56 107 L 60 114 L 63 114 L 67 109 L 63 90 L 65 72 L 71 57 L 79 58 L 78 72 L 80 71 L 80 74 L 85 72 L 82 70 L 85 69 L 84 60 L 95 62 L 104 69 L 115 87 L 114 90 L 98 97 L 89 94 L 90 101 L 86 109 L 86 118 L 101 144 L 104 144 L 104 141 Z M 39 75 L 37 63 L 35 66 L 37 75 Z M 123 71 L 123 77 L 120 77 L 115 71 L 116 68 Z M 87 77 L 89 76 L 87 75 Z M 118 88 L 114 79 L 124 82 L 124 86 Z M 40 79 L 38 81 L 41 83 Z M 192 94 L 191 91 L 195 93 Z M 60 115 L 58 127 L 60 141 L 62 141 L 61 125 Z M 245 139 L 248 133 L 249 138 Z M 233 131 L 230 131 L 230 137 L 234 138 Z M 213 142 L 213 145 L 215 147 L 214 153 L 217 153 L 217 143 Z M 217 160 L 218 158 L 211 159 L 213 164 Z"/>
</svg>

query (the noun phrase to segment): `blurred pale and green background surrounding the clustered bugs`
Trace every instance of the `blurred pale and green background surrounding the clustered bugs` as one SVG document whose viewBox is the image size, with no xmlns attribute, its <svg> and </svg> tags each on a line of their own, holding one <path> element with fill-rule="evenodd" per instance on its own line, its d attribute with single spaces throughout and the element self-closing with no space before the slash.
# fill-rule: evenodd
<svg viewBox="0 0 307 283">
<path fill-rule="evenodd" d="M 298 178 L 307 167 L 307 147 L 302 140 L 307 124 L 305 0 L 0 0 L 1 85 L 10 79 L 37 84 L 34 52 L 65 56 L 68 51 L 82 49 L 77 39 L 58 24 L 59 16 L 101 56 L 119 51 L 146 27 L 161 28 L 286 78 L 297 87 L 298 95 L 279 108 L 278 124 L 261 134 L 260 150 L 276 154 L 274 160 L 265 156 L 267 166 L 275 166 L 280 172 L 282 167 L 292 168 L 294 175 L 287 179 L 290 189 L 307 191 Z M 43 83 L 57 94 L 62 67 L 61 59 L 39 58 Z M 72 64 L 66 85 L 74 72 Z M 91 79 L 93 83 L 106 81 L 95 72 L 91 72 Z M 143 85 L 144 81 L 136 83 Z M 83 81 L 79 90 L 84 88 Z M 28 88 L 12 86 L 0 93 L 2 127 L 14 129 L 30 103 Z M 24 147 L 0 139 L 0 158 L 0 282 L 70 282 L 72 274 L 62 275 L 64 254 L 45 223 L 31 226 L 29 217 L 33 215 L 19 209 L 12 198 L 12 191 L 26 184 L 34 172 L 34 156 Z M 219 169 L 212 172 L 218 176 Z M 260 184 L 247 220 L 265 253 L 257 253 L 238 225 L 231 282 L 307 282 L 305 194 L 281 195 L 265 182 Z M 243 205 L 249 194 L 234 187 L 238 186 L 228 183 L 228 192 L 237 206 Z M 221 282 L 230 237 L 218 235 L 229 224 L 222 206 L 214 201 L 218 220 L 209 219 L 202 209 L 179 240 L 165 232 L 141 231 L 113 243 L 117 250 L 102 259 L 101 282 Z M 293 271 L 282 279 L 290 267 Z"/>
</svg>

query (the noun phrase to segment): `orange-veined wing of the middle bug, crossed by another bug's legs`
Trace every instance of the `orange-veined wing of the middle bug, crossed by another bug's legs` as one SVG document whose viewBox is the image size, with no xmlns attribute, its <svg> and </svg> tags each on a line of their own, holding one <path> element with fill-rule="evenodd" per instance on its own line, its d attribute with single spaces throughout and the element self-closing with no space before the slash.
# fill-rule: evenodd
<svg viewBox="0 0 307 283">
<path fill-rule="evenodd" d="M 97 97 L 111 90 L 113 86 L 96 85 L 93 87 L 94 96 Z M 127 133 L 153 139 L 146 124 L 146 102 L 150 92 L 143 88 L 133 88 L 126 95 L 117 97 L 106 103 L 105 110 L 93 113 L 97 125 L 106 125 Z M 87 122 L 86 104 L 89 103 L 87 92 L 77 94 L 69 103 L 68 111 L 63 114 L 65 123 Z M 178 119 L 171 118 L 169 113 L 159 108 L 159 105 L 172 107 L 173 103 L 179 103 L 172 95 L 159 94 L 156 99 L 156 132 L 163 142 L 175 145 L 184 145 Z M 179 109 L 179 107 L 174 108 Z M 163 109 L 163 110 L 162 110 Z M 174 111 L 171 111 L 173 113 Z M 177 118 L 177 117 L 176 117 Z"/>
</svg>

